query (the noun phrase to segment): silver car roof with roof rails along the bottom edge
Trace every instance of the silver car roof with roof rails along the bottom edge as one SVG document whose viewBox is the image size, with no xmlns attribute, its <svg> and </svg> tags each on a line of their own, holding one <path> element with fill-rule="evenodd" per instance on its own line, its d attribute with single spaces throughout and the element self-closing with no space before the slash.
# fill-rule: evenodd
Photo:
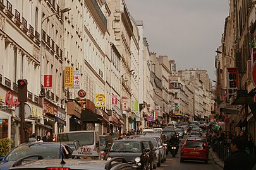
<svg viewBox="0 0 256 170">
<path fill-rule="evenodd" d="M 20 160 L 21 162 L 24 160 Z M 10 170 L 41 170 L 41 169 L 68 169 L 68 170 L 135 170 L 130 164 L 127 164 L 122 157 L 116 157 L 110 161 L 101 160 L 86 160 L 86 159 L 42 159 L 38 161 L 29 161 L 25 164 L 21 164 L 20 161 L 15 162 L 15 167 L 11 167 Z M 64 162 L 63 162 L 64 161 Z"/>
</svg>

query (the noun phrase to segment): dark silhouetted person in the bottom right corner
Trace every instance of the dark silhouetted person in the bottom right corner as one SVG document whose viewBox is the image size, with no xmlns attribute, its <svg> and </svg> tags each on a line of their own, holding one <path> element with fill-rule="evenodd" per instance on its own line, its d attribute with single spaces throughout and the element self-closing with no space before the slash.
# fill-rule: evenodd
<svg viewBox="0 0 256 170">
<path fill-rule="evenodd" d="M 231 156 L 224 160 L 224 170 L 252 170 L 256 164 L 256 157 L 245 151 L 247 141 L 245 137 L 235 137 L 231 140 Z"/>
</svg>

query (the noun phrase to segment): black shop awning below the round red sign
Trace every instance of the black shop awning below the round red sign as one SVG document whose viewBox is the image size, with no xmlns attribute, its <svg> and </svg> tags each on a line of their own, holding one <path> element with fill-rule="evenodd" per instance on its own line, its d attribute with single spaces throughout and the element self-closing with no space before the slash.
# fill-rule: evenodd
<svg viewBox="0 0 256 170">
<path fill-rule="evenodd" d="M 103 118 L 90 110 L 83 109 L 80 120 L 83 123 L 102 123 Z"/>
</svg>

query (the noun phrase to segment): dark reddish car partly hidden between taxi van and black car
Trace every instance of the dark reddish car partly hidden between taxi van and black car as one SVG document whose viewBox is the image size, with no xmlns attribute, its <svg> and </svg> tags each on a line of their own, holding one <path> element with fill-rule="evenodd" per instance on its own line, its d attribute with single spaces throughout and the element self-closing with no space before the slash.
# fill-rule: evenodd
<svg viewBox="0 0 256 170">
<path fill-rule="evenodd" d="M 107 154 L 107 150 L 110 149 L 114 141 L 111 135 L 99 135 L 99 137 L 100 137 L 100 147 L 101 147 L 101 160 L 104 160 Z"/>
</svg>

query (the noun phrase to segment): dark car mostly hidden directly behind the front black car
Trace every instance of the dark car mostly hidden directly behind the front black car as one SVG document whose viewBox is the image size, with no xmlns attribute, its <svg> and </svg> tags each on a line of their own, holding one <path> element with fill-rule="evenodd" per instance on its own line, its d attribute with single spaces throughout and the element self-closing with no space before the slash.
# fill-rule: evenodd
<svg viewBox="0 0 256 170">
<path fill-rule="evenodd" d="M 145 149 L 149 150 L 149 152 L 147 152 L 147 154 L 149 154 L 149 169 L 155 169 L 157 167 L 157 157 L 156 157 L 156 153 L 155 153 L 155 148 L 154 145 L 152 144 L 152 142 L 150 140 L 146 140 L 146 139 L 140 139 L 142 140 Z"/>
</svg>

